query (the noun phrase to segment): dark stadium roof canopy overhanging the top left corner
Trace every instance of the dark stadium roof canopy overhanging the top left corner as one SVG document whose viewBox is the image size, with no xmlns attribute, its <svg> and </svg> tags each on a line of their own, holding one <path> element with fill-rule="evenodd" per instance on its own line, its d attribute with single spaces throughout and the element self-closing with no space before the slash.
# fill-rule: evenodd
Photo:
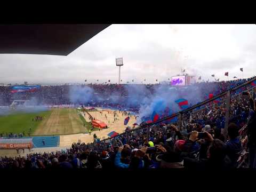
<svg viewBox="0 0 256 192">
<path fill-rule="evenodd" d="M 68 55 L 108 26 L 0 25 L 0 53 Z"/>
</svg>

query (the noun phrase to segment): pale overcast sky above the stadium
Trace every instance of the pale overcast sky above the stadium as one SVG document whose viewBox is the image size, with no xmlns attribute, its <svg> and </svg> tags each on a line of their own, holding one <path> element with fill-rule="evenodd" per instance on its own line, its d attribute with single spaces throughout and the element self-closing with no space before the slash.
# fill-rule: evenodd
<svg viewBox="0 0 256 192">
<path fill-rule="evenodd" d="M 0 42 L 1 43 L 1 42 Z M 68 56 L 0 54 L 0 83 L 155 83 L 181 73 L 242 78 L 256 71 L 256 25 L 111 25 Z"/>
</svg>

